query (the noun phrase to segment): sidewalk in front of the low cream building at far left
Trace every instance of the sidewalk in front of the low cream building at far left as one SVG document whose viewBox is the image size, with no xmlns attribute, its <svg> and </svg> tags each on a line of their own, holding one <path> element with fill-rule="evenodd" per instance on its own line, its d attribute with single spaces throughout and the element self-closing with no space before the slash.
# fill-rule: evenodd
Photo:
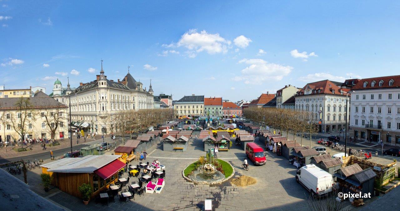
<svg viewBox="0 0 400 211">
<path fill-rule="evenodd" d="M 101 136 L 99 137 L 99 139 Z M 94 141 L 95 139 L 86 139 L 86 142 L 88 141 Z M 2 158 L 12 158 L 12 157 L 20 157 L 20 156 L 25 156 L 25 155 L 32 155 L 36 153 L 42 153 L 45 151 L 49 152 L 50 155 L 50 150 L 56 150 L 56 149 L 63 149 L 71 146 L 70 139 L 62 139 L 59 140 L 58 143 L 60 145 L 50 147 L 49 144 L 46 144 L 46 149 L 43 150 L 43 147 L 40 146 L 40 143 L 36 144 L 28 144 L 27 146 L 23 146 L 24 148 L 27 148 L 28 151 L 23 151 L 23 152 L 17 152 L 14 149 L 20 148 L 20 145 L 18 147 L 12 146 L 12 147 L 2 147 L 0 148 L 0 157 Z M 79 139 L 79 144 L 76 144 L 76 137 L 72 137 L 72 146 L 80 145 L 84 143 L 84 139 Z M 29 148 L 32 147 L 32 150 L 29 150 Z M 14 149 L 13 149 L 14 148 Z"/>
</svg>

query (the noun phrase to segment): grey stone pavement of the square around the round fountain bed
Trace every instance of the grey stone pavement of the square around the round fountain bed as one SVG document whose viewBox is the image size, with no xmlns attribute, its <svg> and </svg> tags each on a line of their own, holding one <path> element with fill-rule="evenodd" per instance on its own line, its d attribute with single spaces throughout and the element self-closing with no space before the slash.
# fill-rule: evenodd
<svg viewBox="0 0 400 211">
<path fill-rule="evenodd" d="M 258 143 L 258 142 L 257 142 Z M 260 143 L 259 143 L 260 144 Z M 204 199 L 212 199 L 213 208 L 218 210 L 307 210 L 306 191 L 294 180 L 296 168 L 286 159 L 267 152 L 267 164 L 254 166 L 250 161 L 249 171 L 243 171 L 241 164 L 245 157 L 243 150 L 233 145 L 228 152 L 220 152 L 218 158 L 229 162 L 235 168 L 234 177 L 248 175 L 257 179 L 255 185 L 236 187 L 230 180 L 220 185 L 195 185 L 182 177 L 182 170 L 190 163 L 205 155 L 201 140 L 190 140 L 186 152 L 164 152 L 162 146 L 153 146 L 147 161 L 158 159 L 166 166 L 165 186 L 160 194 L 136 195 L 128 203 L 116 202 L 108 206 L 83 205 L 82 200 L 68 195 L 57 188 L 45 193 L 41 187 L 40 169 L 28 173 L 31 189 L 66 210 L 201 210 Z M 50 161 L 45 161 L 50 162 Z M 132 162 L 136 165 L 136 162 Z M 22 177 L 18 175 L 18 177 Z M 233 178 L 234 178 L 233 177 Z M 22 179 L 22 178 L 21 178 Z M 134 177 L 131 178 L 136 179 Z M 135 180 L 134 180 L 135 181 Z"/>
</svg>

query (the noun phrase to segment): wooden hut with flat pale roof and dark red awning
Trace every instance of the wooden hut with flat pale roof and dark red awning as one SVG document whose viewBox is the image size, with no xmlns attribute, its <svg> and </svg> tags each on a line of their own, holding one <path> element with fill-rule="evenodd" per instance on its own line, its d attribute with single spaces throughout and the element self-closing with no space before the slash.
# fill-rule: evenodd
<svg viewBox="0 0 400 211">
<path fill-rule="evenodd" d="M 120 155 L 87 155 L 85 157 L 63 158 L 41 165 L 42 173 L 49 174 L 52 185 L 61 191 L 82 198 L 78 187 L 88 183 L 93 187 L 92 197 L 108 189 L 118 179 L 118 171 L 125 163 L 118 160 Z"/>
</svg>

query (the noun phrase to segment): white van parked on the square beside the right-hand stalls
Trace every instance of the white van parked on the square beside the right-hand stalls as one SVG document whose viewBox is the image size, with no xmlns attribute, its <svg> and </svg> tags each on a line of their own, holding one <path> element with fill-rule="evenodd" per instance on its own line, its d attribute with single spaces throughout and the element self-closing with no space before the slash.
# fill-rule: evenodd
<svg viewBox="0 0 400 211">
<path fill-rule="evenodd" d="M 296 173 L 296 182 L 302 184 L 311 195 L 320 196 L 332 191 L 332 175 L 314 164 L 301 167 Z"/>
</svg>

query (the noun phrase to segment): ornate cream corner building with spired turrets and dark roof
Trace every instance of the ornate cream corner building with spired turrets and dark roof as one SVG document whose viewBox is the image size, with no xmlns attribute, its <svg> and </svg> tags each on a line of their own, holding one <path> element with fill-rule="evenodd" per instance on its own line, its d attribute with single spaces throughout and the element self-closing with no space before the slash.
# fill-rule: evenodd
<svg viewBox="0 0 400 211">
<path fill-rule="evenodd" d="M 53 94 L 54 95 L 54 94 Z M 109 80 L 104 75 L 103 65 L 96 80 L 80 83 L 70 93 L 73 125 L 86 132 L 115 132 L 113 119 L 120 110 L 153 109 L 153 90 L 143 88 L 129 73 L 123 80 Z M 68 99 L 67 99 L 68 101 Z"/>
</svg>

